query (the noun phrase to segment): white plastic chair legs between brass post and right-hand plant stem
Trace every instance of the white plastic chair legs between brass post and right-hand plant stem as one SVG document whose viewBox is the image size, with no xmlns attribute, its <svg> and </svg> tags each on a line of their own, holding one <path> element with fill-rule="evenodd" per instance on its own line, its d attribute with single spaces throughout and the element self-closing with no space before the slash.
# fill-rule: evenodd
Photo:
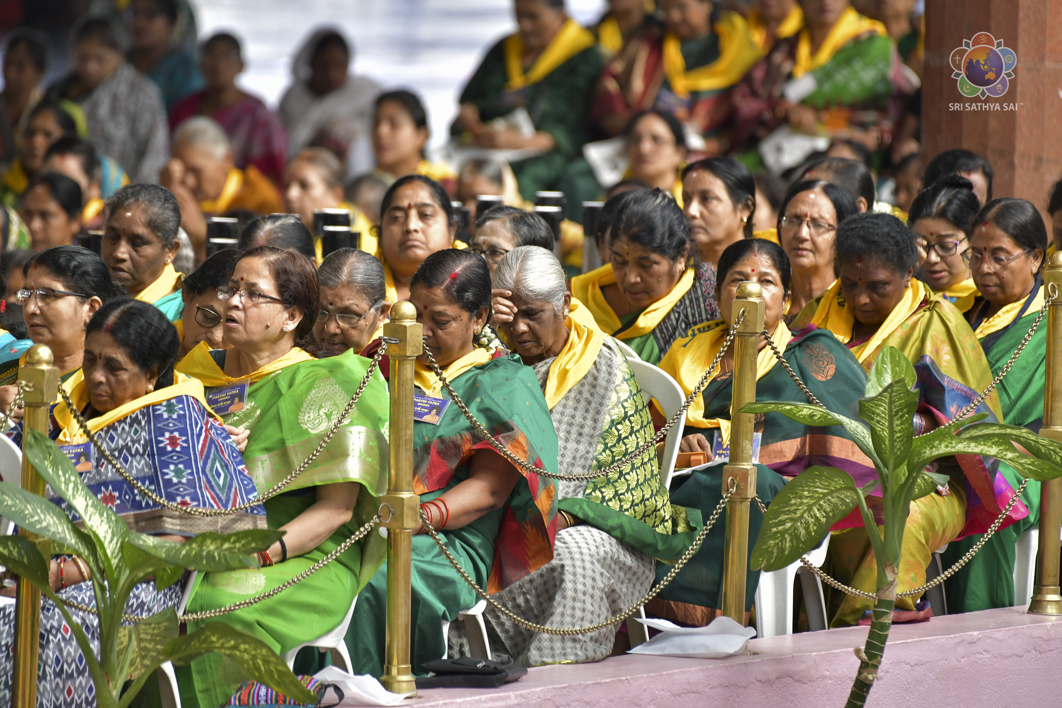
<svg viewBox="0 0 1062 708">
<path fill-rule="evenodd" d="M 816 568 L 826 562 L 829 534 L 822 542 L 804 554 Z M 781 570 L 759 573 L 756 586 L 756 636 L 760 639 L 791 635 L 793 633 L 793 582 L 798 575 L 807 608 L 807 624 L 811 632 L 826 628 L 826 600 L 822 591 L 822 581 L 804 568 L 800 560 Z"/>
</svg>

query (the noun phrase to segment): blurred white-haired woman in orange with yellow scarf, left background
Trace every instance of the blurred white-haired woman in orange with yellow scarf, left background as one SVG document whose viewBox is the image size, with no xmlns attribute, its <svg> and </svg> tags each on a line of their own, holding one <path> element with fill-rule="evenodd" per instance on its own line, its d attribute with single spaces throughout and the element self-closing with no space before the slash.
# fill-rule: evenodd
<svg viewBox="0 0 1062 708">
<path fill-rule="evenodd" d="M 232 211 L 270 214 L 284 211 L 284 200 L 254 165 L 240 170 L 233 161 L 228 136 L 205 116 L 189 118 L 173 133 L 170 161 L 159 180 L 181 204 L 181 226 L 206 258 L 206 218 Z"/>
</svg>

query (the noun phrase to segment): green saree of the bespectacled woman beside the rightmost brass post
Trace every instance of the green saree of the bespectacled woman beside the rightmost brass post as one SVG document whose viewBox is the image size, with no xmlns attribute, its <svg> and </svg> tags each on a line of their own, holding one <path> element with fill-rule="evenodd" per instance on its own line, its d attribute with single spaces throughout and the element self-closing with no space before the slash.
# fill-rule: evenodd
<svg viewBox="0 0 1062 708">
<path fill-rule="evenodd" d="M 1012 317 L 1009 325 L 979 339 L 993 376 L 998 376 L 1037 320 L 1043 306 L 1043 288 L 1039 292 L 1034 289 L 1028 299 L 1035 300 L 1037 295 L 1040 300 L 1030 301 L 1024 314 L 1018 312 L 1018 316 Z M 1044 425 L 1046 358 L 1047 323 L 1041 322 L 1037 333 L 996 387 L 1004 422 L 1028 428 L 1034 433 L 1040 432 Z M 1010 465 L 1000 463 L 999 472 L 1015 489 L 1022 483 L 1022 477 Z M 1014 545 L 1022 534 L 1040 523 L 1040 482 L 1029 480 L 1022 493 L 1022 501 L 1029 510 L 1029 515 L 997 531 L 970 563 L 944 581 L 949 612 L 973 612 L 1029 602 L 1029 598 L 1014 597 Z M 980 539 L 981 535 L 978 534 L 949 543 L 941 555 L 944 567 L 954 565 Z"/>
</svg>

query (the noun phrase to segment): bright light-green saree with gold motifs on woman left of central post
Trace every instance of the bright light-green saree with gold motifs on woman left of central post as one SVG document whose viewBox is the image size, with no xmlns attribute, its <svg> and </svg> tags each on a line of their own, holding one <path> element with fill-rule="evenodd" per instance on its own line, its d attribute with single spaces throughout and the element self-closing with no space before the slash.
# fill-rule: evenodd
<svg viewBox="0 0 1062 708">
<path fill-rule="evenodd" d="M 190 357 L 191 355 L 189 355 Z M 195 363 L 195 362 L 190 362 Z M 221 368 L 199 359 L 204 383 L 222 382 Z M 225 421 L 251 430 L 244 461 L 259 493 L 295 469 L 321 442 L 346 407 L 369 368 L 370 360 L 353 351 L 322 360 L 301 361 L 275 370 L 247 388 L 242 410 Z M 209 393 L 209 390 L 208 390 Z M 315 487 L 359 482 L 354 517 L 321 546 L 269 568 L 206 573 L 196 577 L 189 612 L 200 612 L 261 594 L 291 580 L 336 550 L 377 512 L 376 497 L 387 485 L 389 395 L 379 372 L 373 374 L 358 404 L 314 462 L 286 490 L 266 502 L 270 529 L 290 522 L 316 501 Z M 335 563 L 280 594 L 210 621 L 224 622 L 264 641 L 277 654 L 338 625 L 387 557 L 386 540 L 374 530 Z M 204 623 L 189 623 L 194 632 Z M 246 676 L 228 659 L 208 654 L 178 669 L 185 706 L 219 706 Z"/>
</svg>

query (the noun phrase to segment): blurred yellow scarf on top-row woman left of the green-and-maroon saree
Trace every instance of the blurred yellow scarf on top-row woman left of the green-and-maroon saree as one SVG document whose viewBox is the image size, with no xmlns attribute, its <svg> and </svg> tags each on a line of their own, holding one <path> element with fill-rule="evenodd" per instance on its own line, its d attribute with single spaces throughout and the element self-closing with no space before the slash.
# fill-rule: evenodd
<svg viewBox="0 0 1062 708">
<path fill-rule="evenodd" d="M 729 88 L 759 61 L 759 46 L 749 33 L 749 24 L 737 13 L 723 13 L 712 25 L 719 36 L 719 58 L 712 64 L 686 71 L 682 42 L 670 32 L 664 35 L 664 73 L 675 96 L 687 98 L 691 91 Z"/>
</svg>

